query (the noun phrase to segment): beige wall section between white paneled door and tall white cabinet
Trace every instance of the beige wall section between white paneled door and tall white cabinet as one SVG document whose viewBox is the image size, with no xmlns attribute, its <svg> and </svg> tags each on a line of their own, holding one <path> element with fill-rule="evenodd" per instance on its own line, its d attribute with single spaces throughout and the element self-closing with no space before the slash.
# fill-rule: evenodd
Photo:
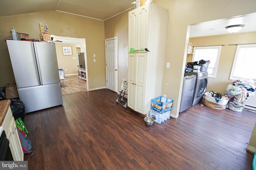
<svg viewBox="0 0 256 170">
<path fill-rule="evenodd" d="M 118 90 L 128 75 L 128 11 L 104 22 L 105 39 L 118 37 Z"/>
</svg>

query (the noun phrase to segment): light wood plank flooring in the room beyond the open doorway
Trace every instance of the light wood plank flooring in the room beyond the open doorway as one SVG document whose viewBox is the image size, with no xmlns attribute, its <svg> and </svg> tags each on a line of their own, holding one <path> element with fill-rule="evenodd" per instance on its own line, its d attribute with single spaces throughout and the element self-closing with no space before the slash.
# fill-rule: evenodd
<svg viewBox="0 0 256 170">
<path fill-rule="evenodd" d="M 86 81 L 77 75 L 65 76 L 65 86 L 61 83 L 62 95 L 87 91 Z"/>
</svg>

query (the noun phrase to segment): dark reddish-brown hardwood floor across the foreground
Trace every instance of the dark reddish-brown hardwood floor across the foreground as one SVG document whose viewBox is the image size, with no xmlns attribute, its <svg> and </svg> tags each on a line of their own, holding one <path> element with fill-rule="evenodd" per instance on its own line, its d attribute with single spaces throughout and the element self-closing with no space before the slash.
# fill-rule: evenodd
<svg viewBox="0 0 256 170">
<path fill-rule="evenodd" d="M 74 93 L 63 96 L 63 106 L 26 114 L 36 147 L 28 170 L 252 169 L 246 147 L 256 113 L 198 104 L 146 126 L 117 97 L 107 89 Z"/>
</svg>

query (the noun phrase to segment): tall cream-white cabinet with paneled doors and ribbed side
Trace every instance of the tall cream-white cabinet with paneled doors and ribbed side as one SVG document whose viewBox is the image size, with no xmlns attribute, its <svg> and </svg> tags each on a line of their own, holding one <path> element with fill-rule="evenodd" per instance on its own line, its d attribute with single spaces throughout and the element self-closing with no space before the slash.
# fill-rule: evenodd
<svg viewBox="0 0 256 170">
<path fill-rule="evenodd" d="M 161 95 L 167 20 L 168 10 L 153 3 L 129 12 L 128 107 L 143 115 Z"/>
</svg>

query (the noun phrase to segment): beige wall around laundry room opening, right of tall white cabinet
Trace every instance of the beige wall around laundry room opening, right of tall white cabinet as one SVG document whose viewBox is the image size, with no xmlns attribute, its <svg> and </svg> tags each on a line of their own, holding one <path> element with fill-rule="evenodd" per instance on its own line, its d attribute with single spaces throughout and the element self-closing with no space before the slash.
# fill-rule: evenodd
<svg viewBox="0 0 256 170">
<path fill-rule="evenodd" d="M 162 95 L 174 100 L 171 114 L 178 117 L 189 42 L 188 25 L 256 12 L 256 1 L 154 0 L 154 3 L 169 10 L 164 63 L 170 62 L 170 68 L 164 68 Z"/>
</svg>

